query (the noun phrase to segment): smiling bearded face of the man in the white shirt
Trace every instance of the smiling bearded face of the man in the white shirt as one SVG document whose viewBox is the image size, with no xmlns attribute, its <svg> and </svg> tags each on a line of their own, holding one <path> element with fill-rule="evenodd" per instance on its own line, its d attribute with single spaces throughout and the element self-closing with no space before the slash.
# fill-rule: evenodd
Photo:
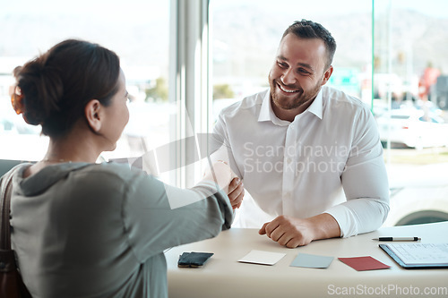
<svg viewBox="0 0 448 298">
<path fill-rule="evenodd" d="M 274 113 L 302 113 L 311 105 L 332 74 L 327 52 L 320 38 L 298 38 L 289 33 L 280 41 L 269 73 Z M 326 69 L 327 68 L 327 69 Z"/>
</svg>

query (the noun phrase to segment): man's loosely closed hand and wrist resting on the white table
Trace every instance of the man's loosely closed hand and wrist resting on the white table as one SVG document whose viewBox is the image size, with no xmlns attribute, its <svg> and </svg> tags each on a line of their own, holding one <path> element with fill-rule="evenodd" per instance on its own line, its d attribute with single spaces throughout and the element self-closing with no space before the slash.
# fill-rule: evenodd
<svg viewBox="0 0 448 298">
<path fill-rule="evenodd" d="M 340 227 L 336 220 L 326 213 L 309 218 L 280 216 L 265 223 L 258 233 L 266 234 L 280 245 L 296 248 L 317 239 L 339 237 Z"/>
</svg>

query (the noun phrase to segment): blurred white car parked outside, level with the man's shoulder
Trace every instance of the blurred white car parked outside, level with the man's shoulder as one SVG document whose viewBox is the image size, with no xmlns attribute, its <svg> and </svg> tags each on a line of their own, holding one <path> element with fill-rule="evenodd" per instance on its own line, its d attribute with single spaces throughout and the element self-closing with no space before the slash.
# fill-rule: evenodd
<svg viewBox="0 0 448 298">
<path fill-rule="evenodd" d="M 376 118 L 382 142 L 423 149 L 448 146 L 448 123 L 433 111 L 392 109 Z"/>
</svg>

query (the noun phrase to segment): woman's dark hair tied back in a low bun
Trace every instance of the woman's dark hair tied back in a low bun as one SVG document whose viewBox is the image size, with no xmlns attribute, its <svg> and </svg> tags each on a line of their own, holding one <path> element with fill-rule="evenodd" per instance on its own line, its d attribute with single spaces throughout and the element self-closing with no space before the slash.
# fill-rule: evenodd
<svg viewBox="0 0 448 298">
<path fill-rule="evenodd" d="M 50 137 L 65 135 L 91 99 L 108 106 L 117 91 L 118 56 L 105 47 L 67 39 L 14 70 L 23 118 Z"/>
</svg>

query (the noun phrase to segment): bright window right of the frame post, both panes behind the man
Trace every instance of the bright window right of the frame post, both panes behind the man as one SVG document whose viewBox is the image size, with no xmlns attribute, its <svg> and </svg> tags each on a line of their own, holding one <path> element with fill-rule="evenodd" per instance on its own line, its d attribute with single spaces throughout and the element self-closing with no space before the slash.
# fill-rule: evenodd
<svg viewBox="0 0 448 298">
<path fill-rule="evenodd" d="M 214 118 L 269 87 L 283 30 L 320 22 L 338 44 L 328 84 L 371 106 L 378 123 L 391 186 L 385 226 L 448 219 L 446 1 L 211 0 L 210 13 Z"/>
</svg>

